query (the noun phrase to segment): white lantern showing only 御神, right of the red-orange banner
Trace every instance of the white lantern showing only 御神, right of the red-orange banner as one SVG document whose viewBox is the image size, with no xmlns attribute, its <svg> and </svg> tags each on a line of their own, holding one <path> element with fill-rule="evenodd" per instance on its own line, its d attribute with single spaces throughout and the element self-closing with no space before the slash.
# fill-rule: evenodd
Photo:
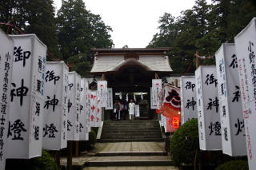
<svg viewBox="0 0 256 170">
<path fill-rule="evenodd" d="M 182 97 L 182 125 L 186 121 L 193 118 L 198 118 L 197 98 L 195 90 L 194 76 L 182 76 L 181 82 L 181 97 Z"/>
</svg>

